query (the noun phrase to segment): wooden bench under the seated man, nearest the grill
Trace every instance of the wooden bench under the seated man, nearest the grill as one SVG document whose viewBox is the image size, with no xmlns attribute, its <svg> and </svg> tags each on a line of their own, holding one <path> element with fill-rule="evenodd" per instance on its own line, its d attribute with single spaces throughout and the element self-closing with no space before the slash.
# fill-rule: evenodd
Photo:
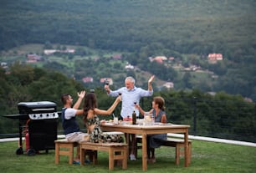
<svg viewBox="0 0 256 173">
<path fill-rule="evenodd" d="M 55 140 L 55 164 L 59 164 L 59 155 L 67 155 L 69 157 L 69 164 L 73 164 L 74 160 L 74 147 L 79 151 L 79 143 L 72 142 L 66 139 Z M 90 160 L 95 162 L 97 160 L 97 151 L 88 150 L 86 155 L 90 156 Z"/>
</svg>

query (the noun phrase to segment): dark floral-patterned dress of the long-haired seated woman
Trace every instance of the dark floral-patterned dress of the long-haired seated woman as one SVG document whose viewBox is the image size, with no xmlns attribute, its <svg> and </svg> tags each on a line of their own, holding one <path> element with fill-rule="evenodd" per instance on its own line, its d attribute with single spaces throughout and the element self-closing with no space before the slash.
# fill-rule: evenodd
<svg viewBox="0 0 256 173">
<path fill-rule="evenodd" d="M 100 129 L 100 119 L 97 115 L 95 115 L 92 119 L 87 119 L 85 123 L 86 127 L 90 129 L 90 142 L 95 143 L 105 143 L 105 142 L 124 142 L 124 139 L 121 135 L 109 135 L 107 133 L 103 133 Z M 91 130 L 90 126 L 95 125 L 93 130 Z"/>
</svg>

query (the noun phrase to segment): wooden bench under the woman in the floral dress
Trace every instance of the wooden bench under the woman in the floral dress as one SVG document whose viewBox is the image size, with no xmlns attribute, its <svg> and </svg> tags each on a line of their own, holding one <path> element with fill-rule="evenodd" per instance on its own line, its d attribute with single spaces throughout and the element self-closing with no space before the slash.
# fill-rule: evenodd
<svg viewBox="0 0 256 173">
<path fill-rule="evenodd" d="M 114 170 L 115 160 L 122 161 L 122 169 L 127 169 L 127 144 L 80 142 L 80 163 L 84 165 L 86 150 L 103 150 L 109 152 L 109 170 Z"/>
</svg>

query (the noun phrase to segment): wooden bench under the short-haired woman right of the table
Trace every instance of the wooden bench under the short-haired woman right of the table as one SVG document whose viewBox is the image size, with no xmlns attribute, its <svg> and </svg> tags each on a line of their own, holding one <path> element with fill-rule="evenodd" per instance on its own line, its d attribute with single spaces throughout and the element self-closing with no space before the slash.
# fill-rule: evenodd
<svg viewBox="0 0 256 173">
<path fill-rule="evenodd" d="M 141 146 L 138 145 L 138 143 L 142 143 L 142 136 L 136 136 L 136 150 L 141 149 Z M 185 152 L 185 143 L 183 139 L 178 138 L 167 138 L 167 140 L 164 140 L 163 144 L 164 146 L 172 146 L 176 148 L 176 165 L 180 164 L 180 156 L 184 155 Z M 181 151 L 181 148 L 183 148 L 183 151 Z M 137 153 L 137 152 L 136 152 Z M 188 164 L 191 162 L 191 155 L 192 155 L 192 141 L 188 140 Z"/>
</svg>

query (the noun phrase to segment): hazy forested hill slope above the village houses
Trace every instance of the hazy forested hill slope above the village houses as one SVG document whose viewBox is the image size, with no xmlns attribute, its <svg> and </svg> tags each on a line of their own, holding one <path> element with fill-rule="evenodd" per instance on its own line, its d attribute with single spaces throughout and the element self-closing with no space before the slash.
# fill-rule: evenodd
<svg viewBox="0 0 256 173">
<path fill-rule="evenodd" d="M 0 49 L 23 43 L 179 53 L 255 53 L 253 0 L 2 0 Z"/>
</svg>

